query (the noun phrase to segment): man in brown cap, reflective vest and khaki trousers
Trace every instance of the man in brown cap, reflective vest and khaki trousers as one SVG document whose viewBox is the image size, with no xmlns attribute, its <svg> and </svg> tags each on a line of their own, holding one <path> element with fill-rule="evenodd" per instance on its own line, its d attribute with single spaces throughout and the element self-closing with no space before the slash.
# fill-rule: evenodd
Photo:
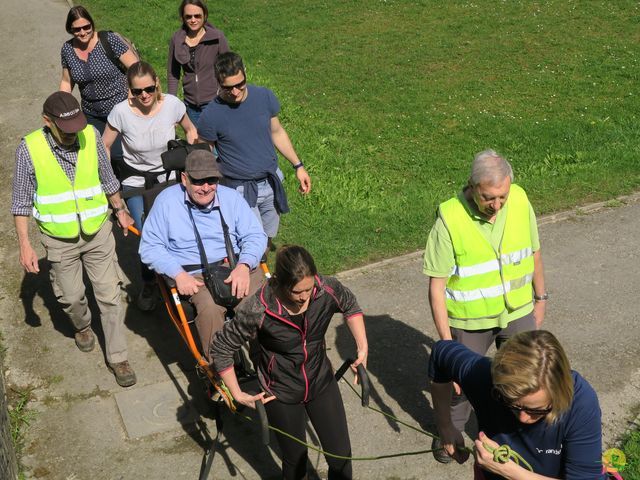
<svg viewBox="0 0 640 480">
<path fill-rule="evenodd" d="M 90 352 L 95 346 L 82 280 L 84 266 L 100 308 L 108 366 L 118 384 L 128 387 L 136 383 L 136 376 L 127 359 L 122 280 L 108 221 L 109 203 L 125 234 L 133 219 L 120 198 L 120 184 L 102 139 L 87 126 L 73 95 L 50 95 L 43 118 L 44 128 L 26 135 L 16 150 L 11 213 L 20 263 L 29 273 L 40 271 L 29 240 L 29 216 L 33 215 L 51 265 L 53 291 L 73 323 L 77 347 Z"/>
</svg>

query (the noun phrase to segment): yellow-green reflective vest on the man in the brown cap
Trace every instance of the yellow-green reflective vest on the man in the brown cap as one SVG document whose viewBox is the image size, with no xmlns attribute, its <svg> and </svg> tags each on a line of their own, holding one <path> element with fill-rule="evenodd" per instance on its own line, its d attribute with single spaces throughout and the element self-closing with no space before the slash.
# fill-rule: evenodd
<svg viewBox="0 0 640 480">
<path fill-rule="evenodd" d="M 107 220 L 107 197 L 98 175 L 98 147 L 91 125 L 78 132 L 80 150 L 73 185 L 56 160 L 42 129 L 24 137 L 37 189 L 33 217 L 40 230 L 57 238 L 76 238 L 80 229 L 96 233 Z"/>
</svg>

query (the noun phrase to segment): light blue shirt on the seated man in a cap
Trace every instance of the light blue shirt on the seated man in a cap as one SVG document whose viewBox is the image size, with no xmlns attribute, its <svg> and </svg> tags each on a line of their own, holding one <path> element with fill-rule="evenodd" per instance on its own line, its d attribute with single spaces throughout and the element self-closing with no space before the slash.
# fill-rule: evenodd
<svg viewBox="0 0 640 480">
<path fill-rule="evenodd" d="M 219 207 L 229 226 L 234 252 L 239 253 L 238 262 L 246 263 L 251 269 L 258 266 L 267 248 L 267 236 L 238 192 L 218 185 L 213 208 L 197 208 L 187 198 L 181 184 L 173 185 L 158 195 L 142 229 L 138 252 L 143 263 L 171 278 L 184 271 L 182 265 L 201 263 L 187 208 L 191 208 L 193 213 L 208 262 L 226 258 L 222 223 L 216 208 Z"/>
</svg>

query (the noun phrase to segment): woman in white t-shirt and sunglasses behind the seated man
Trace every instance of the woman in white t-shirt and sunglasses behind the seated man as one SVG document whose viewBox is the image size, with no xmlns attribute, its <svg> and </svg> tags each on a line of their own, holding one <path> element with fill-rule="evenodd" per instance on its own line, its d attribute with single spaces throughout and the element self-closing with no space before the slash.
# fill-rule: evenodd
<svg viewBox="0 0 640 480">
<path fill-rule="evenodd" d="M 163 95 L 158 76 L 146 62 L 134 63 L 127 71 L 129 98 L 120 102 L 109 114 L 102 140 L 109 152 L 118 134 L 122 138 L 124 171 L 122 189 L 140 189 L 140 195 L 126 200 L 138 229 L 142 228 L 142 190 L 154 183 L 166 181 L 160 154 L 167 150 L 167 142 L 176 138 L 176 124 L 184 130 L 187 141 L 194 143 L 198 132 L 186 107 L 177 97 Z M 145 181 L 146 179 L 146 181 Z M 144 286 L 138 295 L 138 308 L 153 310 L 156 303 L 153 273 L 143 264 Z"/>
</svg>

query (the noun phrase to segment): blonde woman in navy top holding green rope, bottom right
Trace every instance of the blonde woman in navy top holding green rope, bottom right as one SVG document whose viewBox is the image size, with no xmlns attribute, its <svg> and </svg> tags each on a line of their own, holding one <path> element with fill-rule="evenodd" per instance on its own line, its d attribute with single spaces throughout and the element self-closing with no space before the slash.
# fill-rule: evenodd
<svg viewBox="0 0 640 480">
<path fill-rule="evenodd" d="M 595 391 L 550 332 L 522 332 L 493 360 L 451 341 L 436 342 L 429 359 L 431 395 L 445 451 L 467 460 L 461 433 L 451 422 L 451 381 L 473 406 L 480 434 L 474 442 L 474 479 L 604 479 L 602 427 Z M 532 467 L 492 453 L 508 445 Z"/>
</svg>

